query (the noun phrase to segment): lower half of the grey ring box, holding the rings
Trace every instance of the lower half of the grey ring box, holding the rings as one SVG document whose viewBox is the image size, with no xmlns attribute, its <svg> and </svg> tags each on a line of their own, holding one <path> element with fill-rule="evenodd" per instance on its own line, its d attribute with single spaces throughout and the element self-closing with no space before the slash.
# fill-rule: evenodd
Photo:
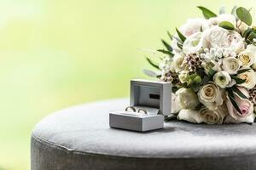
<svg viewBox="0 0 256 170">
<path fill-rule="evenodd" d="M 146 132 L 164 127 L 164 116 L 130 116 L 121 112 L 109 114 L 109 126 L 138 132 Z"/>
</svg>

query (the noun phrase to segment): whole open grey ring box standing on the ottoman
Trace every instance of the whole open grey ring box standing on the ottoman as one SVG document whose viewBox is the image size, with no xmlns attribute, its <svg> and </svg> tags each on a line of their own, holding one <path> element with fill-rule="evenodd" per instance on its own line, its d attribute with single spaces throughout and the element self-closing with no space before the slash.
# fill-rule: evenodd
<svg viewBox="0 0 256 170">
<path fill-rule="evenodd" d="M 171 101 L 170 82 L 131 80 L 130 108 L 136 111 L 128 107 L 109 113 L 109 126 L 140 132 L 163 128 L 164 116 L 171 114 Z"/>
</svg>

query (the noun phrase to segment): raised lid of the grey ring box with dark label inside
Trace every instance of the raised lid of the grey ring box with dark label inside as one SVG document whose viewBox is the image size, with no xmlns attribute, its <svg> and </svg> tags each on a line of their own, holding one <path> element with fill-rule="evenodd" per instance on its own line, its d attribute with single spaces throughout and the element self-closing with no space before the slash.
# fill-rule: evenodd
<svg viewBox="0 0 256 170">
<path fill-rule="evenodd" d="M 172 83 L 131 80 L 130 105 L 148 111 L 149 114 L 171 114 Z"/>
</svg>

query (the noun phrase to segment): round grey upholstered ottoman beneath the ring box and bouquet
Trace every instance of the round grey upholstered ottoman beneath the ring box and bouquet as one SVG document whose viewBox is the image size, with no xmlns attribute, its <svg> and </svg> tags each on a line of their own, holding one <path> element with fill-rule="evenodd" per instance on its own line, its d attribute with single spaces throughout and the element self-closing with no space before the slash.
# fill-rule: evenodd
<svg viewBox="0 0 256 170">
<path fill-rule="evenodd" d="M 136 133 L 108 127 L 108 112 L 126 99 L 79 105 L 47 116 L 34 128 L 32 170 L 253 170 L 254 125 L 168 122 Z"/>
</svg>

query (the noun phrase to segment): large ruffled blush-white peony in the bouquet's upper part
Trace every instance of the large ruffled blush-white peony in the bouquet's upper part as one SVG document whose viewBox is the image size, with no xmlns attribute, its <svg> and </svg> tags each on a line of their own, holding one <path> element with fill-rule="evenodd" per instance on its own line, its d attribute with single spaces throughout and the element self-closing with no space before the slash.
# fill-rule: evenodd
<svg viewBox="0 0 256 170">
<path fill-rule="evenodd" d="M 204 32 L 204 47 L 208 48 L 232 48 L 239 54 L 245 48 L 241 35 L 236 31 L 228 31 L 219 26 L 213 26 Z"/>
</svg>

